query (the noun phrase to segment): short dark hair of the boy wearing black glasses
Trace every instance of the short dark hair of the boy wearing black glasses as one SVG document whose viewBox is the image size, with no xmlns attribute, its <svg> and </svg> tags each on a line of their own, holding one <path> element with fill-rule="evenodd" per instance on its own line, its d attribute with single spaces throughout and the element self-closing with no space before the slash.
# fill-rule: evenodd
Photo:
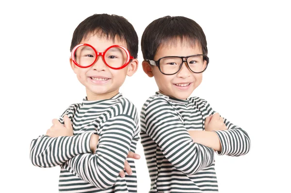
<svg viewBox="0 0 291 193">
<path fill-rule="evenodd" d="M 141 47 L 144 59 L 153 60 L 159 47 L 178 40 L 201 46 L 208 54 L 206 36 L 202 28 L 190 18 L 165 16 L 152 21 L 145 29 Z"/>
</svg>

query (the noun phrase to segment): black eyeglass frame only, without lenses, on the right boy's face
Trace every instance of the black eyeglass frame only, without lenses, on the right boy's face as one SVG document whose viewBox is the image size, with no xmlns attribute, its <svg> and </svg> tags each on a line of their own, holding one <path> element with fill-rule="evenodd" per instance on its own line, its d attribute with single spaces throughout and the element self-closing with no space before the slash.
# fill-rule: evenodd
<svg viewBox="0 0 291 193">
<path fill-rule="evenodd" d="M 194 72 L 194 71 L 191 70 L 191 68 L 189 67 L 189 64 L 188 64 L 187 59 L 188 59 L 189 57 L 198 56 L 198 55 L 202 55 L 202 56 L 203 56 L 203 61 L 206 60 L 206 67 L 205 67 L 205 69 L 204 69 L 203 71 L 201 71 L 201 72 Z M 160 67 L 160 61 L 161 61 L 163 58 L 169 58 L 169 57 L 178 57 L 178 58 L 181 58 L 181 59 L 182 59 L 182 63 L 180 64 L 178 71 L 181 70 L 183 63 L 186 62 L 187 67 L 188 67 L 192 72 L 194 72 L 194 73 L 202 73 L 202 72 L 204 72 L 204 71 L 207 69 L 207 67 L 208 67 L 208 63 L 209 63 L 209 57 L 208 57 L 207 55 L 205 55 L 205 54 L 194 54 L 194 55 L 188 55 L 188 56 L 165 56 L 165 57 L 162 57 L 162 58 L 158 59 L 157 61 L 155 61 L 155 60 L 148 60 L 148 59 L 146 59 L 146 61 L 147 61 L 150 65 L 158 67 L 159 70 L 160 70 L 160 72 L 161 72 L 162 74 L 164 74 L 164 75 L 173 75 L 173 74 L 177 74 L 178 71 L 175 72 L 175 73 L 172 73 L 172 74 L 166 74 L 166 73 L 162 72 L 162 70 L 161 70 L 161 67 Z M 204 59 L 204 57 L 205 57 L 205 59 Z M 184 60 L 184 58 L 186 58 L 186 60 Z"/>
</svg>

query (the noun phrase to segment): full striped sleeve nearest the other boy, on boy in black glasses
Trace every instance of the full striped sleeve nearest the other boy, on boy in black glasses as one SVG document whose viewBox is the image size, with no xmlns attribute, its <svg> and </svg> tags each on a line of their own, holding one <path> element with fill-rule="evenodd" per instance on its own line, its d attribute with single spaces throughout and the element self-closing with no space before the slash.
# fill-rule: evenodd
<svg viewBox="0 0 291 193">
<path fill-rule="evenodd" d="M 194 143 L 175 109 L 166 99 L 154 99 L 141 111 L 142 129 L 178 170 L 193 175 L 214 161 L 213 149 Z"/>
</svg>

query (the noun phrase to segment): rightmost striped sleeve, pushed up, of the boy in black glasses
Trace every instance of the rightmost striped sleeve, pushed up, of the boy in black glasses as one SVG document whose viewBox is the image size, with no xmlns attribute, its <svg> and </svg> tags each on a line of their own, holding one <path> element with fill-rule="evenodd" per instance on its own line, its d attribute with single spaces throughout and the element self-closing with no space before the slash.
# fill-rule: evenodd
<svg viewBox="0 0 291 193">
<path fill-rule="evenodd" d="M 216 113 L 207 101 L 203 100 L 203 103 L 206 107 L 207 116 Z M 221 143 L 221 152 L 216 151 L 216 153 L 227 156 L 242 156 L 247 154 L 251 147 L 248 134 L 239 126 L 230 123 L 226 118 L 224 120 L 227 130 L 213 131 L 218 135 Z"/>
</svg>

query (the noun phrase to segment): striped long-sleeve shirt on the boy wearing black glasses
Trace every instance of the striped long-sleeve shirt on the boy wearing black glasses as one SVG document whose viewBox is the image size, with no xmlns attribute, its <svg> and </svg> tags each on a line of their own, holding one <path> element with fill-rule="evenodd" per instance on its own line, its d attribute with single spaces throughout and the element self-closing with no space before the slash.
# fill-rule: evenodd
<svg viewBox="0 0 291 193">
<path fill-rule="evenodd" d="M 203 99 L 179 100 L 160 92 L 148 98 L 141 111 L 141 142 L 151 179 L 150 193 L 218 192 L 214 151 L 194 143 L 188 130 L 204 130 L 205 118 L 214 114 Z M 222 151 L 241 156 L 250 139 L 240 127 L 225 119 L 227 130 L 215 131 Z"/>
</svg>

